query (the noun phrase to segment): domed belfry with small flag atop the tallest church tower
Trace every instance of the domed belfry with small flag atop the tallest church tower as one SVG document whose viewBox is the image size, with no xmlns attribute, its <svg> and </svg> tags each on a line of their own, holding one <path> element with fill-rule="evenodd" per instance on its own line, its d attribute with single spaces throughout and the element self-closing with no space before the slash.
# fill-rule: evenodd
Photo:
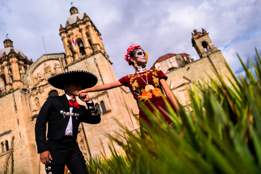
<svg viewBox="0 0 261 174">
<path fill-rule="evenodd" d="M 86 13 L 80 14 L 76 7 L 71 7 L 70 14 L 66 20 L 65 28 L 60 25 L 59 29 L 66 52 L 65 63 L 70 64 L 97 51 L 102 52 L 109 60 L 101 34 Z"/>
</svg>

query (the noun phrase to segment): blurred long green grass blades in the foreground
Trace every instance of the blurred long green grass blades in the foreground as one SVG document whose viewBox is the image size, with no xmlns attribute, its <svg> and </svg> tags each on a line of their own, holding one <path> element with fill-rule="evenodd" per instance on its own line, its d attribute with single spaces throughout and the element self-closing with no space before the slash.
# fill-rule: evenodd
<svg viewBox="0 0 261 174">
<path fill-rule="evenodd" d="M 210 77 L 209 84 L 194 83 L 188 106 L 193 112 L 180 107 L 176 115 L 169 107 L 173 125 L 160 113 L 147 112 L 153 127 L 141 126 L 148 135 L 122 126 L 122 139 L 111 139 L 126 155 L 112 146 L 112 157 L 88 160 L 90 173 L 261 173 L 261 60 L 257 53 L 257 79 L 251 74 L 252 62 L 248 70 L 240 61 L 246 77 L 233 75 L 231 87 L 218 74 L 218 81 Z"/>
</svg>

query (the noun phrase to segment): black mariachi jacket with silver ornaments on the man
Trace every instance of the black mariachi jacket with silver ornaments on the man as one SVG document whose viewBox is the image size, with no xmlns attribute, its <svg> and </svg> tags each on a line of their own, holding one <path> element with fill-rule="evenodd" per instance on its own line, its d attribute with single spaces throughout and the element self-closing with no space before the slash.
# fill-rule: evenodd
<svg viewBox="0 0 261 174">
<path fill-rule="evenodd" d="M 86 103 L 88 109 L 85 106 L 80 105 L 79 108 L 73 107 L 73 113 L 79 114 L 77 117 L 72 117 L 73 122 L 73 137 L 77 139 L 78 128 L 81 122 L 89 124 L 98 124 L 101 121 L 100 114 L 91 115 L 90 106 L 95 106 L 94 103 Z M 62 96 L 49 96 L 41 107 L 39 114 L 37 115 L 35 124 L 35 140 L 37 144 L 38 153 L 48 151 L 46 143 L 46 123 L 48 122 L 47 138 L 60 139 L 66 130 L 70 117 L 60 113 L 63 110 L 66 113 L 70 112 L 69 102 L 66 95 Z M 95 110 L 94 114 L 97 114 L 98 110 Z"/>
</svg>

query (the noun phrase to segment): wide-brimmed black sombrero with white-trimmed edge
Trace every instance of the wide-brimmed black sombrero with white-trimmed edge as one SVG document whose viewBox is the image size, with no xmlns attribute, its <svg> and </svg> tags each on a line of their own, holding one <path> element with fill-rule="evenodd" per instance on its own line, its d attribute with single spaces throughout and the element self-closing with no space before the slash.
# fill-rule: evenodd
<svg viewBox="0 0 261 174">
<path fill-rule="evenodd" d="M 47 81 L 55 88 L 64 90 L 68 82 L 79 82 L 82 89 L 91 88 L 97 84 L 98 78 L 93 73 L 84 70 L 66 71 L 48 77 Z"/>
</svg>

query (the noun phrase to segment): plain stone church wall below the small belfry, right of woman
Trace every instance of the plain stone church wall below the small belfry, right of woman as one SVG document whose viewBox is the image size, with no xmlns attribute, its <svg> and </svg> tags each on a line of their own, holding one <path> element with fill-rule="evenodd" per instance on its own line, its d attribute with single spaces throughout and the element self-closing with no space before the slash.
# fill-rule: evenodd
<svg viewBox="0 0 261 174">
<path fill-rule="evenodd" d="M 193 61 L 190 64 L 186 64 L 183 67 L 172 70 L 166 75 L 168 76 L 167 84 L 172 89 L 173 94 L 179 99 L 179 102 L 184 106 L 186 102 L 189 102 L 189 96 L 186 88 L 191 86 L 191 81 L 202 82 L 210 81 L 209 76 L 217 80 L 214 71 L 224 77 L 224 81 L 228 86 L 230 82 L 226 80 L 226 76 L 232 79 L 232 75 L 229 73 L 229 69 L 226 67 L 226 60 L 224 59 L 220 50 L 213 52 L 209 57 L 204 57 Z M 209 76 L 208 76 L 209 75 Z"/>
</svg>

